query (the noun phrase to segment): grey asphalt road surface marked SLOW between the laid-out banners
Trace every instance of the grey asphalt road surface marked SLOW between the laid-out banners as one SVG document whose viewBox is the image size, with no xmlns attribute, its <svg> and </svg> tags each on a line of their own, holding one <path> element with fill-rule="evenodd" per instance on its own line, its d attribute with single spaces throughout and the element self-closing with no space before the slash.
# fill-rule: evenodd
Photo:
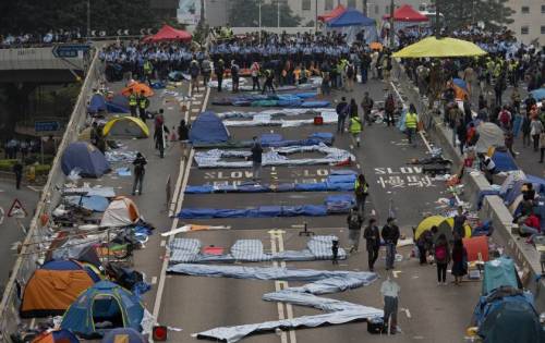
<svg viewBox="0 0 545 343">
<path fill-rule="evenodd" d="M 347 97 L 355 97 L 360 103 L 363 91 L 368 90 L 375 100 L 379 100 L 384 96 L 384 87 L 383 83 L 372 82 L 363 87 L 358 86 L 356 90 L 347 94 Z M 218 95 L 216 90 L 211 90 L 210 99 L 223 96 L 230 96 L 230 94 Z M 340 96 L 341 94 L 337 93 L 330 99 L 340 98 Z M 207 109 L 228 111 L 233 108 L 208 106 Z M 193 115 L 195 113 L 192 113 Z M 305 137 L 315 131 L 332 132 L 334 130 L 334 125 L 325 125 L 298 128 L 276 127 L 272 128 L 272 132 L 280 133 L 289 139 Z M 270 132 L 270 128 L 238 127 L 230 131 L 237 139 L 249 139 L 263 132 Z M 443 194 L 445 188 L 440 182 L 431 181 L 414 168 L 405 164 L 410 158 L 424 157 L 426 149 L 422 142 L 419 142 L 417 148 L 408 146 L 404 137 L 397 130 L 386 127 L 384 124 L 366 127 L 363 137 L 362 147 L 359 149 L 353 148 L 353 142 L 348 134 L 338 136 L 335 146 L 351 149 L 358 157 L 358 163 L 351 168 L 363 170 L 368 179 L 371 199 L 366 206 L 366 212 L 375 209 L 379 223 L 383 225 L 390 207 L 392 207 L 402 232 L 410 236 L 411 228 L 416 225 L 421 219 L 421 212 L 433 211 L 436 206 L 434 201 L 445 196 Z M 270 168 L 264 168 L 264 182 L 275 181 L 276 179 L 272 180 L 275 172 L 278 182 L 290 180 L 298 180 L 298 182 L 319 181 L 334 169 L 336 168 L 329 166 L 280 167 L 272 172 Z M 241 171 L 242 173 L 240 173 Z M 193 164 L 189 173 L 187 184 L 246 181 L 251 174 L 245 172 L 244 170 L 231 169 L 201 170 Z M 326 193 L 185 195 L 179 205 L 182 207 L 243 208 L 257 205 L 319 204 L 325 195 Z M 187 234 L 187 236 L 199 238 L 203 245 L 214 244 L 227 248 L 239 238 L 259 238 L 265 249 L 270 250 L 274 246 L 268 231 L 281 229 L 286 231 L 286 234 L 277 240 L 283 243 L 283 248 L 298 249 L 304 246 L 306 240 L 300 237 L 298 235 L 299 229 L 294 229 L 292 225 L 303 221 L 307 221 L 310 228 L 316 233 L 336 234 L 341 238 L 342 246 L 348 245 L 344 216 L 192 220 L 187 222 L 221 223 L 231 225 L 232 230 L 195 232 Z M 174 226 L 180 226 L 183 223 L 179 221 Z M 278 246 L 277 243 L 275 241 L 275 246 Z M 155 248 L 153 249 L 155 250 Z M 463 286 L 437 286 L 435 268 L 420 267 L 415 259 L 409 259 L 410 249 L 410 247 L 399 249 L 403 261 L 396 266 L 396 270 L 400 271 L 396 281 L 402 289 L 400 307 L 409 309 L 410 317 L 400 313 L 399 324 L 404 333 L 396 335 L 390 341 L 460 342 L 476 303 L 480 283 L 465 282 Z M 144 254 L 149 255 L 149 252 L 144 252 Z M 382 252 L 376 268 L 382 275 L 385 274 L 384 257 L 385 253 Z M 287 266 L 292 268 L 366 270 L 366 254 L 362 249 L 362 252 L 351 256 L 348 261 L 335 268 L 328 261 L 288 262 Z M 275 282 L 182 275 L 166 275 L 164 280 L 165 289 L 160 304 L 156 304 L 158 306 L 156 309 L 159 311 L 159 322 L 183 328 L 182 332 L 171 332 L 170 341 L 195 342 L 196 340 L 191 336 L 191 333 L 218 326 L 276 320 L 282 316 L 299 317 L 318 314 L 314 309 L 287 307 L 262 301 L 261 297 L 264 293 L 275 290 Z M 380 281 L 364 289 L 330 296 L 382 307 L 379 285 Z M 429 324 L 431 322 L 434 324 Z M 366 342 L 384 341 L 384 338 L 368 334 L 365 323 L 350 323 L 296 330 L 282 334 L 265 333 L 244 339 L 244 342 L 361 342 L 362 339 Z"/>
</svg>

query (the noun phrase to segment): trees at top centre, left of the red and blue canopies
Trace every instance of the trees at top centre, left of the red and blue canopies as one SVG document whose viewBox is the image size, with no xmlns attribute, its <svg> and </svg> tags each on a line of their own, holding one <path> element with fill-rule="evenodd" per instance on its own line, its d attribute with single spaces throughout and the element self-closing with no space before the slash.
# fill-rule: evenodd
<svg viewBox="0 0 545 343">
<path fill-rule="evenodd" d="M 229 24 L 239 27 L 259 26 L 259 5 L 255 0 L 231 0 Z M 278 26 L 278 2 L 262 2 L 262 26 Z M 301 17 L 293 15 L 287 2 L 280 3 L 280 26 L 294 27 L 301 24 Z"/>
</svg>

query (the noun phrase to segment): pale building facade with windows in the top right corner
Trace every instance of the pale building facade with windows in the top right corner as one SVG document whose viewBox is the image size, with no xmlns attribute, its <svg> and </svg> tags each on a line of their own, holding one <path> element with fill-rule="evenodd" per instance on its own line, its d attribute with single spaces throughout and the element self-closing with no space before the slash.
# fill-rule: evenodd
<svg viewBox="0 0 545 343">
<path fill-rule="evenodd" d="M 510 0 L 509 7 L 516 11 L 513 23 L 508 27 L 517 39 L 530 45 L 537 41 L 545 46 L 545 0 Z"/>
</svg>

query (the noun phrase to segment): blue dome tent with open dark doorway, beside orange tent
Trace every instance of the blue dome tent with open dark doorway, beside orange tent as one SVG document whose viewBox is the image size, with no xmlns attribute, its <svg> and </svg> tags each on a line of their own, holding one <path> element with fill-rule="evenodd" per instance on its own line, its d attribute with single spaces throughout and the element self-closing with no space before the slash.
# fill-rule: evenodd
<svg viewBox="0 0 545 343">
<path fill-rule="evenodd" d="M 144 307 L 137 296 L 113 282 L 100 281 L 75 299 L 64 314 L 61 328 L 83 338 L 96 338 L 109 329 L 140 330 L 143 317 Z"/>
</svg>

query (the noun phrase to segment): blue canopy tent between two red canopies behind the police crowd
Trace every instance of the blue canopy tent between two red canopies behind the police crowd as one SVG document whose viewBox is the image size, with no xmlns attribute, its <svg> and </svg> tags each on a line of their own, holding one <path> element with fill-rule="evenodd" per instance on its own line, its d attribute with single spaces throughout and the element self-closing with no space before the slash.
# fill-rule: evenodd
<svg viewBox="0 0 545 343">
<path fill-rule="evenodd" d="M 365 16 L 355 9 L 348 9 L 341 15 L 327 22 L 326 30 L 337 30 L 341 34 L 346 34 L 349 44 L 355 40 L 355 36 L 361 30 L 364 30 L 364 38 L 367 44 L 377 40 L 375 20 Z"/>
</svg>

